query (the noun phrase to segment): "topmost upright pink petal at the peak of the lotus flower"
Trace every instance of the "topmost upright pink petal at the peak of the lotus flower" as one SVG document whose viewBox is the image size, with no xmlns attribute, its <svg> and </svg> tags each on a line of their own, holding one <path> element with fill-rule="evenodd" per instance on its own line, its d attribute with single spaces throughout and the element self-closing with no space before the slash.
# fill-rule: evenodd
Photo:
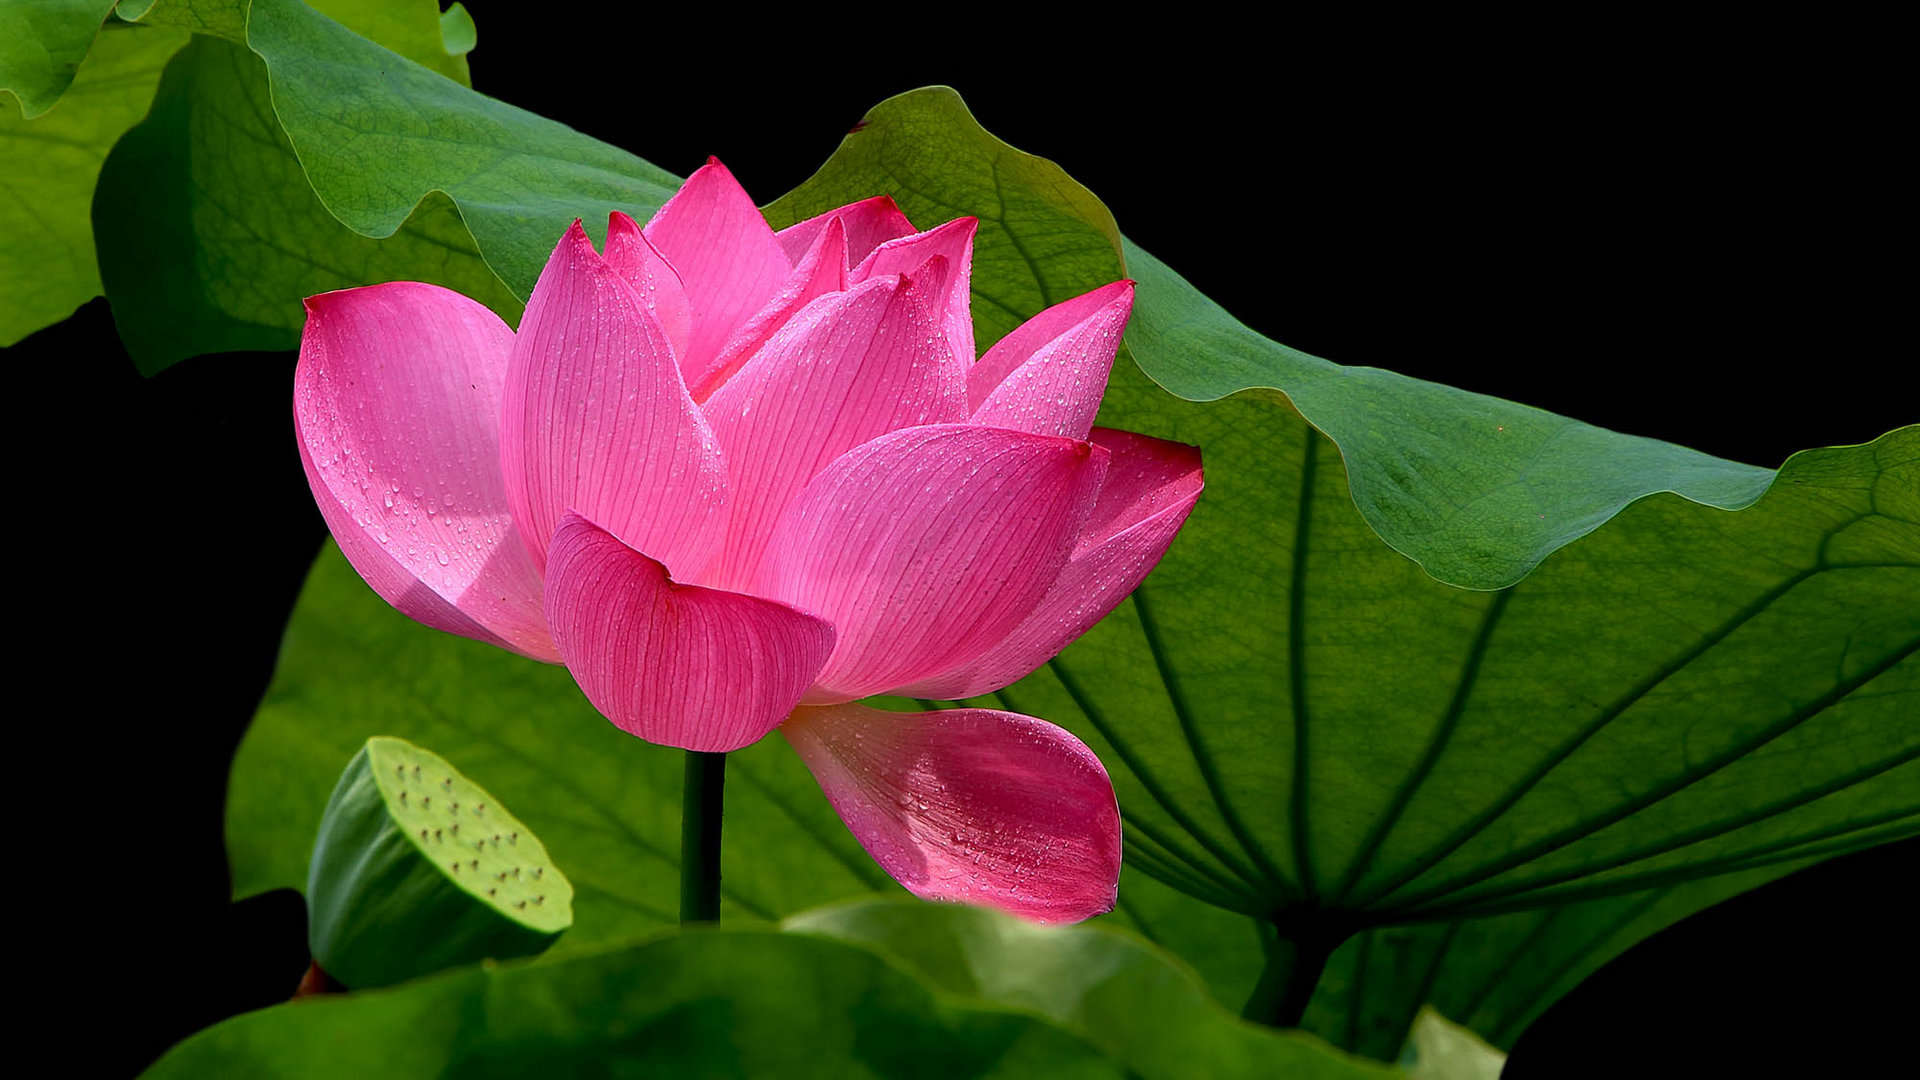
<svg viewBox="0 0 1920 1080">
<path fill-rule="evenodd" d="M 645 234 L 680 273 L 693 306 L 693 332 L 680 356 L 691 384 L 712 367 L 733 329 L 780 290 L 793 263 L 718 158 L 687 177 L 647 221 Z"/>
</svg>

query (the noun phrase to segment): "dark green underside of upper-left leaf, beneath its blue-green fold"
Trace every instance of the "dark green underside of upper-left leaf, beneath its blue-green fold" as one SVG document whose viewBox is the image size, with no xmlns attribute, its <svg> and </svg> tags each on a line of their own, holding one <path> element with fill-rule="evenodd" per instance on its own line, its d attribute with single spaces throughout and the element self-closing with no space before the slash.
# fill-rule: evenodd
<svg viewBox="0 0 1920 1080">
<path fill-rule="evenodd" d="M 432 4 L 342 0 L 330 8 L 394 35 L 392 44 L 424 60 L 459 61 L 465 77 L 465 58 L 440 46 Z M 146 21 L 192 12 L 211 19 L 204 8 L 159 6 Z M 420 77 L 472 94 L 442 75 L 422 69 Z M 94 233 L 115 323 L 146 373 L 205 352 L 292 348 L 301 298 L 376 281 L 432 281 L 509 317 L 518 311 L 445 196 L 424 200 L 386 238 L 342 225 L 288 146 L 265 65 L 215 35 L 198 35 L 169 63 L 154 111 L 113 148 L 94 200 Z"/>
</svg>

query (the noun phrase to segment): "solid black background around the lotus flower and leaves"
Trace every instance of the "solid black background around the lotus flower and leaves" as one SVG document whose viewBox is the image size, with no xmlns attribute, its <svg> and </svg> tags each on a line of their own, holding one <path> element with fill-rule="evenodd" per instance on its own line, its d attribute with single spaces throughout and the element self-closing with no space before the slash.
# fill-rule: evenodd
<svg viewBox="0 0 1920 1080">
<path fill-rule="evenodd" d="M 883 96 L 948 83 L 1296 348 L 1768 467 L 1920 419 L 1882 27 L 472 8 L 480 90 L 680 175 L 718 154 L 762 202 Z M 29 936 L 58 976 L 42 1005 L 106 1020 L 83 1072 L 123 1074 L 305 967 L 298 896 L 227 903 L 221 803 L 323 527 L 290 356 L 146 380 L 94 302 L 8 371 L 13 465 L 44 488 L 15 517 L 13 671 L 73 667 L 13 724 L 65 807 L 23 855 L 65 871 Z M 1553 1005 L 1507 1076 L 1891 1057 L 1916 855 L 1837 859 L 1647 940 Z"/>
</svg>

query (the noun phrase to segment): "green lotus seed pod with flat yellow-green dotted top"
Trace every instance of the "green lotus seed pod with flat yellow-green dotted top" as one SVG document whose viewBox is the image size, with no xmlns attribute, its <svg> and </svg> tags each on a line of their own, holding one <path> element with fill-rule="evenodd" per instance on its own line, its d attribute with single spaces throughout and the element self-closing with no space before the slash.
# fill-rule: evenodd
<svg viewBox="0 0 1920 1080">
<path fill-rule="evenodd" d="M 307 865 L 307 945 L 349 990 L 526 957 L 574 922 L 574 888 L 493 796 L 407 740 L 367 740 Z"/>
</svg>

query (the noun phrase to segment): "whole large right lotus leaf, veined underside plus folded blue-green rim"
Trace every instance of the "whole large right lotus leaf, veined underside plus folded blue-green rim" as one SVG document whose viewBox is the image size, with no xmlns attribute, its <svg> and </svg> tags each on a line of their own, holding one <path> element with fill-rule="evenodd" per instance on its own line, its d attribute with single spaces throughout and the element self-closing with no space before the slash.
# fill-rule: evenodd
<svg viewBox="0 0 1920 1080">
<path fill-rule="evenodd" d="M 983 250 L 1029 254 L 983 259 L 979 288 L 1021 294 L 991 275 L 1025 267 L 1052 282 L 1025 294 L 1058 300 L 1091 284 L 1085 261 L 1020 233 L 1062 233 L 1035 208 L 1079 200 L 1058 171 L 1008 190 L 1016 154 L 948 92 L 906 94 L 770 211 L 877 188 L 910 215 L 977 213 Z M 1116 367 L 1102 423 L 1202 446 L 1208 494 L 1127 605 L 993 701 L 1100 751 L 1133 867 L 1331 945 L 1920 830 L 1920 429 L 1801 454 L 1768 488 L 1759 469 L 1302 357 L 1133 248 L 1129 273 L 1140 367 Z M 1467 592 L 1380 536 L 1463 584 L 1538 569 Z M 1185 911 L 1137 915 L 1188 938 L 1183 955 L 1246 965 L 1244 922 L 1208 944 Z M 1574 922 L 1536 944 L 1565 945 Z"/>
</svg>

